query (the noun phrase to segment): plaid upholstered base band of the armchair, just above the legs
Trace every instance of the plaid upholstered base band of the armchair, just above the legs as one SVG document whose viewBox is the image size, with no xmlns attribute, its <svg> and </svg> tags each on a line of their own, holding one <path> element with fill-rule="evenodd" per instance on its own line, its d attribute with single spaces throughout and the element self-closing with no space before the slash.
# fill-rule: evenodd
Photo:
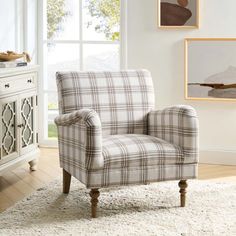
<svg viewBox="0 0 236 236">
<path fill-rule="evenodd" d="M 85 184 L 87 188 L 147 184 L 151 182 L 195 179 L 197 164 L 173 164 L 143 167 L 106 168 L 101 170 L 64 169 Z"/>
</svg>

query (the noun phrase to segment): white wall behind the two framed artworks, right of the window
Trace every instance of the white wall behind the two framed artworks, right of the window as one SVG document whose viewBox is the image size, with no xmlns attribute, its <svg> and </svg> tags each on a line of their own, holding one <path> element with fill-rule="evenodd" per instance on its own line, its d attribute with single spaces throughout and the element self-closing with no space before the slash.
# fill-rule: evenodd
<svg viewBox="0 0 236 236">
<path fill-rule="evenodd" d="M 202 160 L 203 150 L 212 151 L 207 152 L 212 162 L 215 152 L 222 151 L 223 163 L 236 164 L 236 102 L 184 99 L 183 42 L 187 37 L 236 37 L 236 1 L 200 0 L 200 29 L 195 30 L 158 29 L 157 0 L 127 2 L 128 67 L 151 71 L 157 108 L 180 103 L 196 108 Z"/>
</svg>

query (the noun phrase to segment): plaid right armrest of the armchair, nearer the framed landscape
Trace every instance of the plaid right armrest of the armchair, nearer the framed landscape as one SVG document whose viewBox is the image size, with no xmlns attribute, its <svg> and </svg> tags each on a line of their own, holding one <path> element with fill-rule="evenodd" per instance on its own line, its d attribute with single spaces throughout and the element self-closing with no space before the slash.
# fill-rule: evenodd
<svg viewBox="0 0 236 236">
<path fill-rule="evenodd" d="M 198 161 L 198 118 L 196 111 L 186 105 L 151 111 L 148 134 L 180 146 L 184 157 Z"/>
</svg>

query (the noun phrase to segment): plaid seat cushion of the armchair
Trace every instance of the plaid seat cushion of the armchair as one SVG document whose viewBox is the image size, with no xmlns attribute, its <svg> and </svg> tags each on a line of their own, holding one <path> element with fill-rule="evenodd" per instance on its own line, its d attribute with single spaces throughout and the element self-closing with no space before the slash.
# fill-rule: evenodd
<svg viewBox="0 0 236 236">
<path fill-rule="evenodd" d="M 104 167 L 108 169 L 186 163 L 183 150 L 179 146 L 140 134 L 104 137 L 102 155 Z"/>
</svg>

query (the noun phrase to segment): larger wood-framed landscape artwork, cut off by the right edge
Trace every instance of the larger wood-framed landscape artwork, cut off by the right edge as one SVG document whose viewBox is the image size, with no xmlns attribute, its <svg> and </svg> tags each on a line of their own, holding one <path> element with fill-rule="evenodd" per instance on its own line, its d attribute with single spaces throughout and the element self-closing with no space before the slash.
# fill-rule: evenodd
<svg viewBox="0 0 236 236">
<path fill-rule="evenodd" d="M 236 101 L 236 38 L 185 39 L 185 97 Z"/>
</svg>

